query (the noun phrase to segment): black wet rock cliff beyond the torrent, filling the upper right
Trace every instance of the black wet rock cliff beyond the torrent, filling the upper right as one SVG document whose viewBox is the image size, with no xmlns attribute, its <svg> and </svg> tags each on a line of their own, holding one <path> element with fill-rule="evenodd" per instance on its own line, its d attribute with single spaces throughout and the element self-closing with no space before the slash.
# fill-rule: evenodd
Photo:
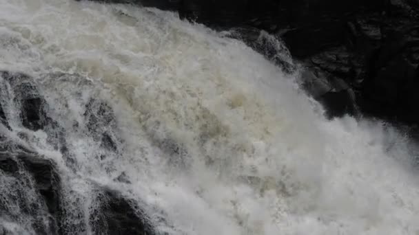
<svg viewBox="0 0 419 235">
<path fill-rule="evenodd" d="M 322 71 L 320 77 L 306 78 L 305 87 L 311 85 L 307 91 L 325 105 L 329 117 L 358 115 L 362 111 L 365 115 L 418 125 L 416 1 L 126 2 L 175 10 L 181 18 L 217 30 L 236 28 L 234 38 L 242 39 L 286 71 L 293 71 L 294 65 L 272 56 L 276 52 L 270 48 L 272 44 L 260 43 L 260 30 L 276 34 L 293 58 L 312 71 Z M 318 94 L 321 89 L 312 87 L 318 79 L 329 84 L 327 92 Z M 346 91 L 334 86 L 336 82 L 345 82 Z"/>
</svg>

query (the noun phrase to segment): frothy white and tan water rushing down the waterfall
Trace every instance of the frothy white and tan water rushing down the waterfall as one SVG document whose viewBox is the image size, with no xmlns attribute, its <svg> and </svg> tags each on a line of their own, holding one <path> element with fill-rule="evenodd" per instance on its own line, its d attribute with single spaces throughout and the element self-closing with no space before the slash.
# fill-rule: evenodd
<svg viewBox="0 0 419 235">
<path fill-rule="evenodd" d="M 407 139 L 374 122 L 325 120 L 295 75 L 243 43 L 159 10 L 0 5 L 0 69 L 37 78 L 49 115 L 67 130 L 72 167 L 43 131 L 26 132 L 59 164 L 68 208 L 88 214 L 99 184 L 139 201 L 169 234 L 419 234 Z M 49 75 L 57 72 L 74 76 Z M 120 140 L 117 154 L 83 131 L 89 96 L 116 113 L 117 127 L 103 128 Z M 121 172 L 132 183 L 114 181 Z"/>
</svg>

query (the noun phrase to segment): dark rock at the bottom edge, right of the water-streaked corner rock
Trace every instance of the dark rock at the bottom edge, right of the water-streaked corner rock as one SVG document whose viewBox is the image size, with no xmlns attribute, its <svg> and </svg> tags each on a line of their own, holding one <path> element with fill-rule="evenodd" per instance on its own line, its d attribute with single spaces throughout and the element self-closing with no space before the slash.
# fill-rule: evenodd
<svg viewBox="0 0 419 235">
<path fill-rule="evenodd" d="M 99 208 L 90 216 L 95 234 L 154 234 L 150 221 L 135 201 L 112 190 L 105 190 L 97 200 Z"/>
</svg>

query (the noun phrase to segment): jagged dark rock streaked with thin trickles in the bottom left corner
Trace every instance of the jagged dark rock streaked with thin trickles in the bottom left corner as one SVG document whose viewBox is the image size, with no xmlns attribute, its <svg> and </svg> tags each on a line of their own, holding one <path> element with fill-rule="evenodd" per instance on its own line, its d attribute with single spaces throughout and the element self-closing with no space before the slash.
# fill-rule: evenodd
<svg viewBox="0 0 419 235">
<path fill-rule="evenodd" d="M 0 172 L 6 172 L 8 182 L 12 183 L 6 183 L 0 190 L 0 214 L 11 221 L 19 221 L 21 216 L 30 218 L 31 230 L 36 234 L 58 234 L 59 175 L 51 161 L 18 149 L 25 148 L 0 155 Z M 19 210 L 15 212 L 12 208 Z"/>
</svg>

